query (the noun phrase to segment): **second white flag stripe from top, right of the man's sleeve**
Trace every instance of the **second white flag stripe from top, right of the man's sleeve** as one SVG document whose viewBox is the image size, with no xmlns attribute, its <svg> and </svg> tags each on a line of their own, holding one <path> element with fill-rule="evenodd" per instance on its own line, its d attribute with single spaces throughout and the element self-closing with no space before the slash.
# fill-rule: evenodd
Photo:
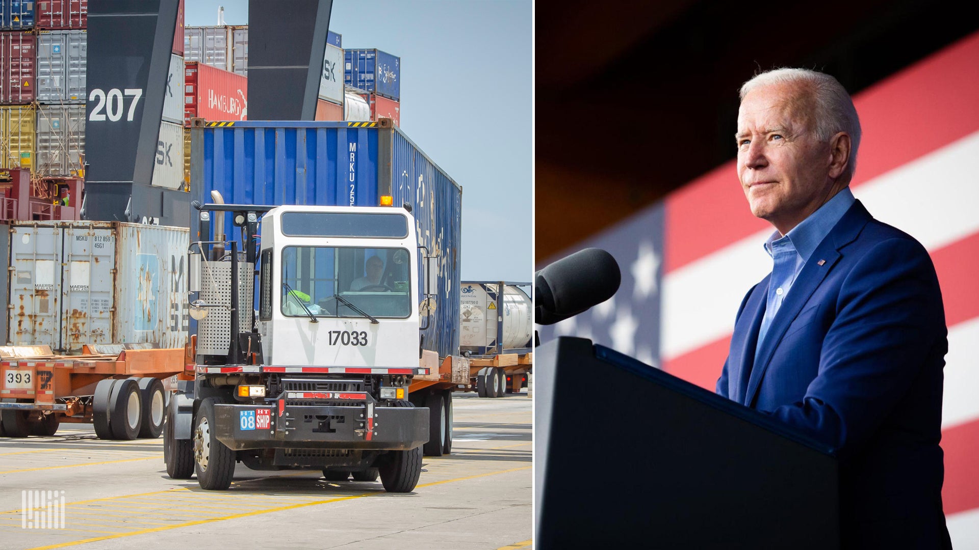
<svg viewBox="0 0 979 550">
<path fill-rule="evenodd" d="M 949 329 L 949 354 L 945 356 L 945 392 L 942 429 L 979 418 L 979 317 Z"/>
</svg>

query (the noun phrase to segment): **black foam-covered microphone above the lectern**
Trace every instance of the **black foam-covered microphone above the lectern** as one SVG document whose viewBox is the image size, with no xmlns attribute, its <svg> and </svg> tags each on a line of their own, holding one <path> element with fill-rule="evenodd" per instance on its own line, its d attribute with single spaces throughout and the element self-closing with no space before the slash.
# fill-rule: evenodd
<svg viewBox="0 0 979 550">
<path fill-rule="evenodd" d="M 534 274 L 534 322 L 553 325 L 612 298 L 622 273 L 612 254 L 584 249 L 563 257 Z"/>
</svg>

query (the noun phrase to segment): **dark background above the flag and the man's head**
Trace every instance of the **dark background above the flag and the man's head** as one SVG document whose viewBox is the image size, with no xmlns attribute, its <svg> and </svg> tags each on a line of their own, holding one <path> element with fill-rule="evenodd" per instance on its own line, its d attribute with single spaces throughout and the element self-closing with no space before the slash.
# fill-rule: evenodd
<svg viewBox="0 0 979 550">
<path fill-rule="evenodd" d="M 979 29 L 954 6 L 537 0 L 536 260 L 733 159 L 756 72 L 822 70 L 856 94 Z"/>
</svg>

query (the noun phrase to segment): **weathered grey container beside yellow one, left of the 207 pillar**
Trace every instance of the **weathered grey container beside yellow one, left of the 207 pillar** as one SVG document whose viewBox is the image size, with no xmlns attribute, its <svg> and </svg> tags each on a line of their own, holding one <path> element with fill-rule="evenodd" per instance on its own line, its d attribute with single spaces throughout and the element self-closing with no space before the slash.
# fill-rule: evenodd
<svg viewBox="0 0 979 550">
<path fill-rule="evenodd" d="M 85 106 L 42 105 L 37 109 L 37 160 L 41 176 L 76 175 L 85 156 Z"/>
</svg>

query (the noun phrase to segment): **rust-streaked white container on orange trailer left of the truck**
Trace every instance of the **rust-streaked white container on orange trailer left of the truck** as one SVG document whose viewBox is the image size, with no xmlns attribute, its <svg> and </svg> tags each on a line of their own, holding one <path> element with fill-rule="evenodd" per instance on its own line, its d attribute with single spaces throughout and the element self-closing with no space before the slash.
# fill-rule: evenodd
<svg viewBox="0 0 979 550">
<path fill-rule="evenodd" d="M 187 341 L 189 231 L 121 222 L 12 222 L 9 345 Z"/>
</svg>

